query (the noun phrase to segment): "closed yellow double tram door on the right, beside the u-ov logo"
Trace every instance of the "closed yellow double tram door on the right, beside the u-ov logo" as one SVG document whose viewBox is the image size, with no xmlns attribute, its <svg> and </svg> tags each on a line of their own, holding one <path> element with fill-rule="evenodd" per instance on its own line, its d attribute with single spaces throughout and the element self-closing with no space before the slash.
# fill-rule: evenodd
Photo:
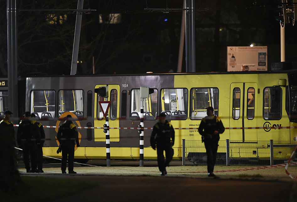
<svg viewBox="0 0 297 202">
<path fill-rule="evenodd" d="M 230 140 L 256 141 L 258 85 L 256 83 L 232 83 L 230 86 Z"/>
</svg>

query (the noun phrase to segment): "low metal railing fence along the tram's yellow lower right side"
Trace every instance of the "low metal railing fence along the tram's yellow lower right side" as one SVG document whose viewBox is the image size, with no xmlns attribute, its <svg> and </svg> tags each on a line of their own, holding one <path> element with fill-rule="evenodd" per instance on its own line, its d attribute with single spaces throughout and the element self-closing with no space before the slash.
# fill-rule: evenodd
<svg viewBox="0 0 297 202">
<path fill-rule="evenodd" d="M 217 165 L 276 165 L 287 162 L 296 143 L 290 141 L 220 140 Z M 292 160 L 297 160 L 296 153 Z M 207 156 L 202 140 L 182 140 L 183 165 L 206 165 Z"/>
</svg>

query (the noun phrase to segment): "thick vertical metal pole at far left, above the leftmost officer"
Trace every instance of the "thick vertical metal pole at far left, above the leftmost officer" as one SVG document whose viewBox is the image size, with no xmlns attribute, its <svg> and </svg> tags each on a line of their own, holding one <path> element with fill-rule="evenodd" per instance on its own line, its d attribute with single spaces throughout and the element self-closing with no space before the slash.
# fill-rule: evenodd
<svg viewBox="0 0 297 202">
<path fill-rule="evenodd" d="M 16 0 L 7 0 L 8 107 L 18 113 L 18 32 Z M 20 112 L 21 113 L 21 112 Z M 18 114 L 20 116 L 20 114 Z"/>
</svg>

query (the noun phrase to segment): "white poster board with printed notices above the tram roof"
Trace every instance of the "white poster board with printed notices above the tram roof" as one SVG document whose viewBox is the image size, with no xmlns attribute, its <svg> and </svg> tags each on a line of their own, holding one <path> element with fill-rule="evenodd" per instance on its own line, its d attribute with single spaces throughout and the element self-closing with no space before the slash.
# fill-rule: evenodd
<svg viewBox="0 0 297 202">
<path fill-rule="evenodd" d="M 227 71 L 267 71 L 267 46 L 227 46 Z"/>
</svg>

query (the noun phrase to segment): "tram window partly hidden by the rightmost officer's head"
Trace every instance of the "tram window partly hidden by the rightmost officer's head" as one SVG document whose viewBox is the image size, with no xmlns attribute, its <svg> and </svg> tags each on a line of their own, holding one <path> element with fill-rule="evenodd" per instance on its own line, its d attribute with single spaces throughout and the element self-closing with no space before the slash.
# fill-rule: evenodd
<svg viewBox="0 0 297 202">
<path fill-rule="evenodd" d="M 218 88 L 192 88 L 190 90 L 190 118 L 201 120 L 207 116 L 206 108 L 212 106 L 214 114 L 219 114 L 219 89 Z"/>
</svg>

